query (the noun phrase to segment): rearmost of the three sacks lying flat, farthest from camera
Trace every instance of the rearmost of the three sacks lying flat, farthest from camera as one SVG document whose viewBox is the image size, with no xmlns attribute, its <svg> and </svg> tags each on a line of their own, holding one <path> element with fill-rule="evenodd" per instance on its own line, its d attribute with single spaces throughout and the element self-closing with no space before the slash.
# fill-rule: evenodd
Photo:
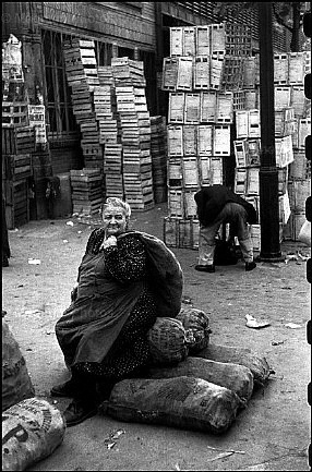
<svg viewBox="0 0 312 472">
<path fill-rule="evenodd" d="M 269 367 L 266 359 L 259 356 L 248 348 L 209 343 L 205 349 L 194 354 L 194 356 L 208 359 L 211 361 L 244 365 L 251 371 L 254 385 L 264 385 L 269 375 L 274 374 L 274 371 Z"/>
</svg>

